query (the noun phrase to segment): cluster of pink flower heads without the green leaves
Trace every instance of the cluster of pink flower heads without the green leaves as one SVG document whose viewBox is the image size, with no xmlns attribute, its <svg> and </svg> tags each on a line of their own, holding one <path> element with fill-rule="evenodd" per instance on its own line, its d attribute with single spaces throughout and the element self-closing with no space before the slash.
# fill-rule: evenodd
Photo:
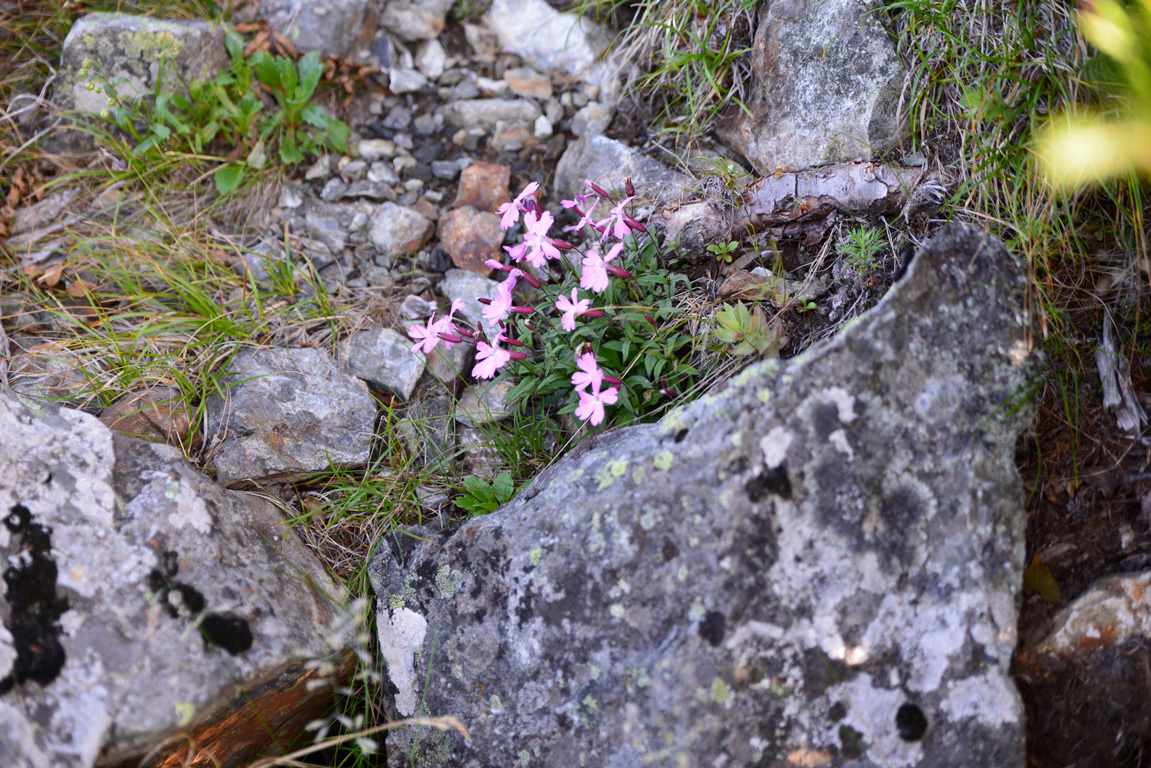
<svg viewBox="0 0 1151 768">
<path fill-rule="evenodd" d="M 608 289 L 612 276 L 622 280 L 630 280 L 631 273 L 612 264 L 619 258 L 624 249 L 623 242 L 617 242 L 607 250 L 605 241 L 609 237 L 622 241 L 633 231 L 646 233 L 647 229 L 628 216 L 624 206 L 634 197 L 635 191 L 627 182 L 627 197 L 619 200 L 611 207 L 609 214 L 601 220 L 594 218 L 595 208 L 608 199 L 610 205 L 611 196 L 590 181 L 586 182 L 589 193 L 577 195 L 576 199 L 562 200 L 561 205 L 573 210 L 580 216 L 579 221 L 565 229 L 565 231 L 581 231 L 585 227 L 592 227 L 600 234 L 600 243 L 595 248 L 588 248 L 582 259 L 582 272 L 580 274 L 579 287 L 590 294 L 601 294 Z M 516 196 L 516 199 L 500 206 L 500 226 L 508 230 L 524 218 L 524 242 L 513 246 L 504 246 L 509 258 L 513 264 L 527 261 L 536 271 L 543 271 L 550 259 L 558 259 L 563 251 L 572 250 L 574 246 L 566 241 L 551 237 L 548 233 L 555 225 L 555 218 L 544 211 L 535 192 L 540 185 L 532 182 Z M 447 315 L 436 320 L 435 313 L 428 318 L 426 326 L 413 325 L 407 329 L 407 335 L 417 340 L 412 345 L 412 351 L 429 353 L 441 341 L 447 349 L 452 344 L 460 343 L 464 339 L 477 341 L 475 365 L 472 367 L 472 378 L 490 379 L 500 368 L 514 359 L 526 359 L 527 355 L 516 348 L 524 343 L 512 339 L 506 324 L 508 317 L 512 313 L 529 315 L 536 312 L 544 314 L 555 309 L 559 313 L 559 325 L 564 330 L 576 330 L 577 318 L 601 318 L 603 312 L 592 307 L 589 297 L 579 298 L 578 290 L 572 288 L 570 296 L 561 295 L 551 307 L 543 311 L 536 307 L 519 305 L 516 303 L 512 292 L 516 290 L 518 281 L 523 280 L 533 288 L 542 288 L 543 283 L 534 275 L 519 266 L 503 264 L 491 259 L 486 263 L 493 269 L 505 272 L 508 276 L 500 283 L 494 299 L 480 298 L 485 304 L 482 310 L 483 320 L 491 328 L 497 329 L 494 339 L 477 339 L 477 334 L 466 328 L 462 328 L 455 322 L 455 314 L 463 309 L 464 302 L 456 299 Z M 544 317 L 547 317 L 544 314 Z M 529 326 L 531 327 L 531 326 Z M 506 345 L 511 349 L 505 349 Z M 619 386 L 623 383 L 615 377 L 607 375 L 599 366 L 595 355 L 592 351 L 584 351 L 576 359 L 578 371 L 572 374 L 572 387 L 579 396 L 579 404 L 576 408 L 577 418 L 588 421 L 593 426 L 603 423 L 604 406 L 613 405 L 619 400 Z M 604 385 L 610 385 L 604 388 Z"/>
</svg>

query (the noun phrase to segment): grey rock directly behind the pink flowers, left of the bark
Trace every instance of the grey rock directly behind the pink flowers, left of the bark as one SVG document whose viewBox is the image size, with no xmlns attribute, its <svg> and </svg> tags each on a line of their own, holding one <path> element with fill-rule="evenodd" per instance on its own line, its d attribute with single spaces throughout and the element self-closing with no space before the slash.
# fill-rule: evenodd
<svg viewBox="0 0 1151 768">
<path fill-rule="evenodd" d="M 647 158 L 626 144 L 607 136 L 585 136 L 573 142 L 556 166 L 555 191 L 559 197 L 587 193 L 584 180 L 590 178 L 609 192 L 624 191 L 624 180 L 631 176 L 635 185 L 638 208 L 643 205 L 679 200 L 688 189 L 688 180 L 658 160 Z M 635 215 L 634 213 L 632 215 Z"/>
</svg>

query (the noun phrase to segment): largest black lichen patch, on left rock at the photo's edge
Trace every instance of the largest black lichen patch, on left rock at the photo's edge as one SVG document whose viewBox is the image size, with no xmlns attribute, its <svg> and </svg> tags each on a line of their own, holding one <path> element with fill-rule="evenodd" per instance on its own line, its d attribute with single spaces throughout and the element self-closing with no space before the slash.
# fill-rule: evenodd
<svg viewBox="0 0 1151 768">
<path fill-rule="evenodd" d="M 12 674 L 0 680 L 0 694 L 28 680 L 47 685 L 64 667 L 60 642 L 60 617 L 68 600 L 56 594 L 56 561 L 52 556 L 52 531 L 32 520 L 23 504 L 16 504 L 5 525 L 20 540 L 18 553 L 5 569 L 5 595 L 10 609 L 5 626 L 12 632 L 16 661 Z"/>
</svg>

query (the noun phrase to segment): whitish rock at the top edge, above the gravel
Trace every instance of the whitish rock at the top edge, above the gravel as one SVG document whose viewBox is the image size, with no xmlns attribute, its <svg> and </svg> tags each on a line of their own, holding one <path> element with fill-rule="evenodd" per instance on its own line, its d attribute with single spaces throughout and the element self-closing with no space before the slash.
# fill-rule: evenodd
<svg viewBox="0 0 1151 768">
<path fill-rule="evenodd" d="M 546 0 L 494 0 L 483 16 L 504 51 L 543 70 L 587 75 L 611 43 L 611 31 Z"/>
</svg>

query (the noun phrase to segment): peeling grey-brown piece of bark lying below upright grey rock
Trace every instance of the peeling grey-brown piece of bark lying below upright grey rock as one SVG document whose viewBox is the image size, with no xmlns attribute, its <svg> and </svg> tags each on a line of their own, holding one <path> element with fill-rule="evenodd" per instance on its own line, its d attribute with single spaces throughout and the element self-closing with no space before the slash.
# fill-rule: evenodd
<svg viewBox="0 0 1151 768">
<path fill-rule="evenodd" d="M 930 201 L 938 189 L 929 182 L 925 166 L 844 162 L 764 176 L 740 190 L 733 204 L 702 200 L 666 208 L 661 223 L 664 237 L 679 237 L 686 259 L 696 264 L 710 258 L 709 243 L 813 222 L 836 212 L 894 215 Z"/>
</svg>

